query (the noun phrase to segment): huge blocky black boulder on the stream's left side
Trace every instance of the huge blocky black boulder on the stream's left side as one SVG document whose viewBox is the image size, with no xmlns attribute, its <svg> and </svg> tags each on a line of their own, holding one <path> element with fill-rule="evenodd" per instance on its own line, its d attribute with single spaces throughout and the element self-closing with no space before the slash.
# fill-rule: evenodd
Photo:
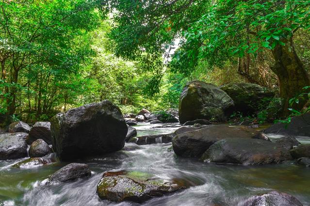
<svg viewBox="0 0 310 206">
<path fill-rule="evenodd" d="M 51 118 L 52 146 L 61 160 L 120 150 L 128 131 L 120 109 L 105 100 Z"/>
</svg>

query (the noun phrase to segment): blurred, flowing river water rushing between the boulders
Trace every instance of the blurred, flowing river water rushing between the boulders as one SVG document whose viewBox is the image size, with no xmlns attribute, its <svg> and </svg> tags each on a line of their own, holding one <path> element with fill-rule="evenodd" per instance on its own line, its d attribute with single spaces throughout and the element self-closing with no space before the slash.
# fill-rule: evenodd
<svg viewBox="0 0 310 206">
<path fill-rule="evenodd" d="M 175 124 L 154 128 L 158 126 L 161 125 L 140 124 L 136 129 L 138 135 L 170 133 L 178 129 Z M 305 141 L 307 143 L 308 140 Z M 191 186 L 140 205 L 237 206 L 251 195 L 277 190 L 290 193 L 304 206 L 310 206 L 309 167 L 297 166 L 292 162 L 264 166 L 203 163 L 190 158 L 178 158 L 168 151 L 169 147 L 171 143 L 146 146 L 126 144 L 126 150 L 75 161 L 88 164 L 92 177 L 52 186 L 44 185 L 47 177 L 69 162 L 17 169 L 11 165 L 23 159 L 0 161 L 0 200 L 8 206 L 138 205 L 100 200 L 96 194 L 97 184 L 105 171 L 124 169 L 148 172 Z"/>
</svg>

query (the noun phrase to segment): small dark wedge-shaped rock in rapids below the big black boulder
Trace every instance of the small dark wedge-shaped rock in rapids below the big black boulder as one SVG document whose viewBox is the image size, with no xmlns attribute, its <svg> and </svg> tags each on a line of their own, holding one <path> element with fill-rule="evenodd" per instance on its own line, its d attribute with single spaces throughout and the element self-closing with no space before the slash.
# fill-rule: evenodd
<svg viewBox="0 0 310 206">
<path fill-rule="evenodd" d="M 90 177 L 91 175 L 92 172 L 89 170 L 87 164 L 70 163 L 51 175 L 46 184 L 58 184 L 82 177 Z"/>
</svg>

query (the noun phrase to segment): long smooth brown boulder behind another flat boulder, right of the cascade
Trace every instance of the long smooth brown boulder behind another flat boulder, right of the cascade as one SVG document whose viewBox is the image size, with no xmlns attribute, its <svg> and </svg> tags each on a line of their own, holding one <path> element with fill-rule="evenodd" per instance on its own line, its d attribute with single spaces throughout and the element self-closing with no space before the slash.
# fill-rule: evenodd
<svg viewBox="0 0 310 206">
<path fill-rule="evenodd" d="M 182 131 L 182 132 L 181 132 Z M 227 138 L 258 138 L 266 137 L 248 127 L 229 127 L 226 125 L 213 125 L 202 128 L 180 128 L 173 140 L 174 152 L 183 157 L 200 157 L 212 144 Z M 266 138 L 266 140 L 268 140 Z"/>
</svg>

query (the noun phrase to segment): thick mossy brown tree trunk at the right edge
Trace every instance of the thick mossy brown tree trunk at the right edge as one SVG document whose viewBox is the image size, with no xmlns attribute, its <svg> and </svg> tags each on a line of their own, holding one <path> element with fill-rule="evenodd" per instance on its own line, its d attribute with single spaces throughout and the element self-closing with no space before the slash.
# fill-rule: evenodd
<svg viewBox="0 0 310 206">
<path fill-rule="evenodd" d="M 302 92 L 302 88 L 310 86 L 309 76 L 303 63 L 298 58 L 293 44 L 293 38 L 281 39 L 285 45 L 277 45 L 273 49 L 275 65 L 272 71 L 277 74 L 279 79 L 280 97 L 284 99 L 283 115 L 289 113 L 289 100 L 296 94 Z M 296 105 L 301 109 L 302 103 Z"/>
</svg>

